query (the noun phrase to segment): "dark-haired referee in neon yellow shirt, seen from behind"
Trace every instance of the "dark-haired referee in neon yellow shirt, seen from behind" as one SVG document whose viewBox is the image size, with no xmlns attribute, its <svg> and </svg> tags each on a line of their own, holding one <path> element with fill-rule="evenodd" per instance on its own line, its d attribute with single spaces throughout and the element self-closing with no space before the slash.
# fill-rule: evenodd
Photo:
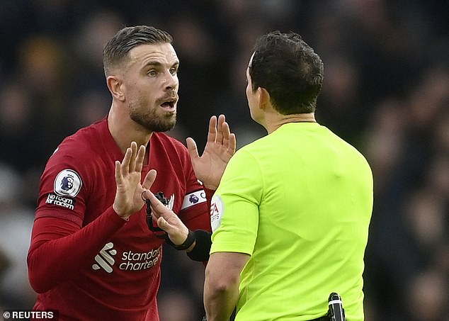
<svg viewBox="0 0 449 321">
<path fill-rule="evenodd" d="M 236 307 L 237 321 L 330 320 L 333 292 L 347 320 L 364 318 L 373 175 L 360 152 L 315 120 L 323 69 L 300 35 L 256 42 L 246 96 L 268 135 L 237 151 L 212 198 L 208 321 L 227 321 Z M 158 221 L 170 221 L 161 224 L 169 234 L 186 235 L 174 213 L 146 196 Z"/>
</svg>

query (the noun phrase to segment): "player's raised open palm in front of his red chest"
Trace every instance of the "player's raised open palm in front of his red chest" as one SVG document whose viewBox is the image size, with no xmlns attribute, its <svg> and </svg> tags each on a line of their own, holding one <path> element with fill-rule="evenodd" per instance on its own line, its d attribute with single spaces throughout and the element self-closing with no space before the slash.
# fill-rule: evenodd
<svg viewBox="0 0 449 321">
<path fill-rule="evenodd" d="M 131 142 L 131 146 L 125 152 L 123 161 L 121 163 L 115 161 L 117 189 L 113 209 L 124 220 L 142 209 L 144 205 L 142 192 L 149 189 L 156 179 L 156 171 L 152 169 L 145 176 L 143 184 L 140 184 L 144 155 L 144 145 L 141 145 L 137 150 L 137 143 Z"/>
</svg>

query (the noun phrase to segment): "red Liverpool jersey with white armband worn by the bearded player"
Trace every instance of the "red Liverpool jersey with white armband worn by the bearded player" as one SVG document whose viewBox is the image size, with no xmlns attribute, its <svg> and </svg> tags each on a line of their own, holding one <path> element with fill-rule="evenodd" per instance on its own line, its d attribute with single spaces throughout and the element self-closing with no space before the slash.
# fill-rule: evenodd
<svg viewBox="0 0 449 321">
<path fill-rule="evenodd" d="M 60 321 L 159 320 L 164 240 L 147 227 L 145 205 L 128 221 L 112 209 L 123 157 L 105 118 L 67 137 L 48 160 L 28 253 L 35 310 L 57 310 Z M 152 192 L 163 192 L 191 230 L 210 230 L 209 201 L 186 147 L 153 133 L 142 180 L 150 169 Z"/>
</svg>

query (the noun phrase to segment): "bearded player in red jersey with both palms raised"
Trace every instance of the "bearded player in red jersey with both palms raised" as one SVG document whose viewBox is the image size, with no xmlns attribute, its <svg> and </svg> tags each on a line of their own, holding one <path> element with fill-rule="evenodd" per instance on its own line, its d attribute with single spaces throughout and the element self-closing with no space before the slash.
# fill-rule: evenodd
<svg viewBox="0 0 449 321">
<path fill-rule="evenodd" d="M 210 230 L 210 197 L 235 137 L 224 116 L 212 116 L 200 157 L 191 138 L 187 149 L 162 133 L 176 123 L 179 61 L 171 43 L 163 30 L 135 26 L 106 44 L 110 112 L 67 137 L 41 177 L 28 253 L 35 310 L 57 310 L 60 321 L 159 321 L 166 235 L 147 225 L 149 189 L 188 228 Z M 194 237 L 169 241 L 195 249 Z"/>
</svg>

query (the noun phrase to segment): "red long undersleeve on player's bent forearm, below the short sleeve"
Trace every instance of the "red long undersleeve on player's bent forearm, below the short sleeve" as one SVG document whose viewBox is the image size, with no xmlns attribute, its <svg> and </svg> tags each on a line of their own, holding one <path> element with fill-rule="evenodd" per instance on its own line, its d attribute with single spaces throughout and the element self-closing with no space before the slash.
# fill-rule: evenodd
<svg viewBox="0 0 449 321">
<path fill-rule="evenodd" d="M 33 289 L 42 293 L 75 276 L 125 223 L 112 207 L 82 228 L 62 218 L 37 218 L 28 251 Z"/>
</svg>

